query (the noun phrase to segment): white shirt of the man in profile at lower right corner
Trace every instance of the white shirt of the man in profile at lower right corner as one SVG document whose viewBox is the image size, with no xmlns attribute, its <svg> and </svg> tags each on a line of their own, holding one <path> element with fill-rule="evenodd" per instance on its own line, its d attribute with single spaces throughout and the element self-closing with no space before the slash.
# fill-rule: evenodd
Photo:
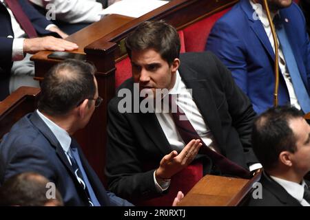
<svg viewBox="0 0 310 220">
<path fill-rule="evenodd" d="M 278 177 L 270 177 L 280 184 L 280 186 L 285 188 L 287 193 L 297 199 L 302 206 L 310 206 L 310 204 L 304 199 L 304 185 L 306 185 L 304 181 L 302 181 L 302 184 L 298 184 L 296 182 L 280 179 Z"/>
</svg>

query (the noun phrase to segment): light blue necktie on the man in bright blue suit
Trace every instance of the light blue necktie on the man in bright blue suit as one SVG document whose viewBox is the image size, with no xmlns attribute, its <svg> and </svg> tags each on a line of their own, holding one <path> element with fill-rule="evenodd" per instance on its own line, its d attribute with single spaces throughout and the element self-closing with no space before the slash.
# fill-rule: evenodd
<svg viewBox="0 0 310 220">
<path fill-rule="evenodd" d="M 291 76 L 298 102 L 302 108 L 302 111 L 304 111 L 304 113 L 308 113 L 310 111 L 310 98 L 307 89 L 302 82 L 293 50 L 291 49 L 289 39 L 287 38 L 287 33 L 285 32 L 285 28 L 283 27 L 278 14 L 274 17 L 273 22 L 276 25 L 276 32 L 280 41 L 280 46 L 282 47 L 283 55 L 285 56 L 287 69 L 289 69 L 289 75 Z"/>
</svg>

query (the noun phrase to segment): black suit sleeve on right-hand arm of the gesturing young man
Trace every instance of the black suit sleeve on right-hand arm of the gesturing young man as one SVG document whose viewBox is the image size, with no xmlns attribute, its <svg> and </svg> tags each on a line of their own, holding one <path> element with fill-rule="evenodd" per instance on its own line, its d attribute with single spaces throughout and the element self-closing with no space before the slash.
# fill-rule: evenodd
<svg viewBox="0 0 310 220">
<path fill-rule="evenodd" d="M 223 82 L 223 88 L 228 104 L 229 114 L 231 115 L 232 126 L 238 132 L 240 142 L 245 153 L 246 162 L 249 165 L 258 162 L 251 147 L 251 131 L 256 113 L 247 96 L 234 82 L 231 72 L 220 60 L 213 55 L 218 72 Z"/>
</svg>

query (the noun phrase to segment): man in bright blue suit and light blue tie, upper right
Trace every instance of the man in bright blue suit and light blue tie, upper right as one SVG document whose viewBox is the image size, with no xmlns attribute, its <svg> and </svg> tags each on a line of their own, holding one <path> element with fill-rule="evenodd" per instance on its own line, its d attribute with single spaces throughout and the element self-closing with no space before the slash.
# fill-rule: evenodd
<svg viewBox="0 0 310 220">
<path fill-rule="evenodd" d="M 310 111 L 310 43 L 300 8 L 269 0 L 279 42 L 279 104 Z M 212 28 L 206 50 L 231 70 L 237 85 L 262 113 L 273 105 L 275 59 L 271 28 L 261 0 L 241 0 Z"/>
</svg>

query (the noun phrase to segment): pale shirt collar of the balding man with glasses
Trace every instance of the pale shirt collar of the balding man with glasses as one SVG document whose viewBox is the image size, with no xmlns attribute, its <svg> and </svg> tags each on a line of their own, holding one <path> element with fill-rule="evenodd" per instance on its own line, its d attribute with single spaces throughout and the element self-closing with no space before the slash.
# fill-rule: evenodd
<svg viewBox="0 0 310 220">
<path fill-rule="evenodd" d="M 68 153 L 70 144 L 71 144 L 71 137 L 65 129 L 62 129 L 60 126 L 52 122 L 49 118 L 47 118 L 43 113 L 37 109 L 37 113 L 39 117 L 45 122 L 45 124 L 48 126 L 48 128 L 52 131 L 52 133 L 55 135 L 56 139 L 61 144 L 61 147 L 63 148 L 63 151 L 65 153 Z"/>
</svg>

